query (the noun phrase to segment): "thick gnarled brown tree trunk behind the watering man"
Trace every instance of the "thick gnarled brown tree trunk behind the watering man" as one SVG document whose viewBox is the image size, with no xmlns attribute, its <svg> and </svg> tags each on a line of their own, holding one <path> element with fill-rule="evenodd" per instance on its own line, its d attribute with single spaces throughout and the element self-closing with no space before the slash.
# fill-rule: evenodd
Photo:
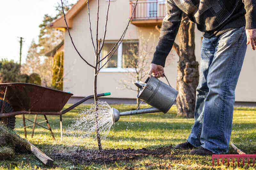
<svg viewBox="0 0 256 170">
<path fill-rule="evenodd" d="M 180 60 L 177 66 L 178 75 L 176 88 L 179 91 L 179 95 L 176 100 L 176 105 L 178 115 L 192 118 L 195 114 L 196 87 L 199 78 L 198 62 L 195 56 L 195 23 L 183 16 L 178 36 L 178 55 Z"/>
</svg>

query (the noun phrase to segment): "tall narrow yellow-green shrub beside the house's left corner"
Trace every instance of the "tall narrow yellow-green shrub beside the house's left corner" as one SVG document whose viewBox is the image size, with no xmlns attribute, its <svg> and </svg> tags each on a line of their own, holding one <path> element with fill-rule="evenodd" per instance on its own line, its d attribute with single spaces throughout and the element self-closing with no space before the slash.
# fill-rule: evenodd
<svg viewBox="0 0 256 170">
<path fill-rule="evenodd" d="M 63 90 L 63 51 L 57 52 L 53 58 L 52 88 Z"/>
</svg>

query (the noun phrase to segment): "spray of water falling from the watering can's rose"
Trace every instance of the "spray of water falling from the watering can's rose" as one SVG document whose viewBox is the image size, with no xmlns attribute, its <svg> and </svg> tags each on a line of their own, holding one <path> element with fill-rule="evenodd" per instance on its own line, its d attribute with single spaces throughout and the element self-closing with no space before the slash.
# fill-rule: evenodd
<svg viewBox="0 0 256 170">
<path fill-rule="evenodd" d="M 107 141 L 107 135 L 113 127 L 113 112 L 105 101 L 98 102 L 98 129 L 101 138 L 101 145 Z M 88 156 L 90 152 L 97 152 L 97 137 L 95 126 L 95 105 L 82 110 L 71 122 L 63 134 L 63 142 L 56 144 L 53 148 L 53 155 L 74 155 Z M 72 156 L 71 156 L 72 157 Z"/>
</svg>

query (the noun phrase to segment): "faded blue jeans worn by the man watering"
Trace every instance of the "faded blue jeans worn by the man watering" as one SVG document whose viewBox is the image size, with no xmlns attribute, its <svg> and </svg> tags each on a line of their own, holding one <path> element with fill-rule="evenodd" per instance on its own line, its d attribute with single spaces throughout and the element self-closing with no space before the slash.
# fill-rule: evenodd
<svg viewBox="0 0 256 170">
<path fill-rule="evenodd" d="M 244 26 L 203 38 L 195 124 L 188 142 L 215 154 L 228 152 L 235 88 L 246 51 Z"/>
</svg>

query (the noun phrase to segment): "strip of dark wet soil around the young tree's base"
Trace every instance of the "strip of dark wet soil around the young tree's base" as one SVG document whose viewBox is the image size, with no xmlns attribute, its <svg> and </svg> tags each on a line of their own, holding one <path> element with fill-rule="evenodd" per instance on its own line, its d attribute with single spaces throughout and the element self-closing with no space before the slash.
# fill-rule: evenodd
<svg viewBox="0 0 256 170">
<path fill-rule="evenodd" d="M 92 152 L 88 150 L 80 150 L 75 153 L 55 153 L 54 156 L 60 159 L 70 159 L 73 163 L 82 164 L 110 164 L 118 161 L 128 161 L 141 159 L 142 157 L 154 156 L 154 157 L 165 157 L 167 155 L 177 155 L 180 151 L 173 153 L 173 147 L 164 146 L 156 149 L 105 149 L 102 152 Z"/>
</svg>

